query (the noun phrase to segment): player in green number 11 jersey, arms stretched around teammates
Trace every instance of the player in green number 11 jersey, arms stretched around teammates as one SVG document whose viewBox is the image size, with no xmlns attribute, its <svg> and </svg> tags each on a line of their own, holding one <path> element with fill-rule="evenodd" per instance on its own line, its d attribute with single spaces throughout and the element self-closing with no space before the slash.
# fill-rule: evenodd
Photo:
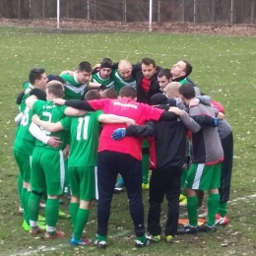
<svg viewBox="0 0 256 256">
<path fill-rule="evenodd" d="M 85 99 L 99 99 L 96 90 L 89 91 Z M 73 237 L 71 244 L 87 245 L 92 240 L 82 237 L 82 232 L 88 222 L 90 204 L 96 198 L 96 152 L 98 148 L 99 126 L 103 123 L 134 123 L 134 120 L 103 114 L 102 111 L 87 112 L 80 117 L 65 117 L 57 123 L 41 121 L 38 116 L 33 116 L 33 122 L 50 132 L 66 130 L 71 132 L 71 146 L 69 157 L 70 185 L 72 190 L 69 206 L 73 224 Z"/>
</svg>

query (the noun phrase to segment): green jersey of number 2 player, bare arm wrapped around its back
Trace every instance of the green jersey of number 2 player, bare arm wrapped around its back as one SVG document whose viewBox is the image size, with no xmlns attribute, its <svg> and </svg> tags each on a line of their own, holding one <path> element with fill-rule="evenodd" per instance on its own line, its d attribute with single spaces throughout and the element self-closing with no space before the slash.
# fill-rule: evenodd
<svg viewBox="0 0 256 256">
<path fill-rule="evenodd" d="M 56 123 L 63 119 L 65 115 L 65 109 L 67 106 L 65 105 L 55 105 L 52 101 L 43 101 L 43 100 L 36 100 L 32 105 L 32 110 L 35 114 L 37 114 L 42 121 L 48 121 L 52 123 Z M 52 148 L 49 145 L 42 143 L 41 141 L 36 140 L 35 146 L 36 147 L 43 147 L 45 149 L 51 150 L 63 150 L 66 147 L 67 142 L 67 134 L 66 131 L 59 131 L 59 132 L 49 132 L 41 128 L 44 134 L 48 136 L 55 136 L 60 139 L 62 144 L 58 148 Z"/>
</svg>

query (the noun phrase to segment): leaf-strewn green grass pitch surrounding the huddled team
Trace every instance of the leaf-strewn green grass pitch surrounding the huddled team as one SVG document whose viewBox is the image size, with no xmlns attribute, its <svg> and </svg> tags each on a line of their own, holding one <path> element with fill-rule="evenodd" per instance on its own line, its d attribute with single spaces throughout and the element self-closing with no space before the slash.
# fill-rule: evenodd
<svg viewBox="0 0 256 256">
<path fill-rule="evenodd" d="M 234 36 L 173 35 L 167 33 L 54 33 L 38 29 L 0 28 L 0 255 L 16 255 L 40 246 L 57 246 L 55 251 L 35 252 L 33 255 L 254 255 L 256 216 L 255 199 L 230 202 L 230 224 L 214 234 L 186 235 L 167 245 L 153 244 L 134 250 L 133 226 L 129 217 L 126 194 L 115 195 L 109 222 L 109 248 L 70 247 L 70 221 L 59 225 L 67 238 L 55 241 L 34 239 L 22 228 L 17 213 L 19 199 L 16 179 L 18 168 L 12 155 L 18 112 L 15 98 L 22 90 L 34 66 L 46 68 L 48 74 L 74 70 L 82 60 L 96 64 L 103 57 L 114 61 L 128 58 L 135 63 L 145 56 L 157 64 L 170 67 L 180 59 L 189 60 L 194 71 L 191 78 L 202 92 L 220 100 L 225 117 L 233 127 L 234 166 L 230 198 L 255 193 L 255 38 Z M 145 213 L 148 192 L 144 192 Z M 61 207 L 67 211 L 68 203 Z M 166 215 L 163 204 L 162 218 Z M 184 214 L 181 209 L 181 214 Z M 96 206 L 87 226 L 88 236 L 96 232 Z M 227 244 L 225 247 L 222 244 Z M 58 247 L 62 244 L 62 247 Z M 25 255 L 25 254 L 24 254 Z"/>
</svg>

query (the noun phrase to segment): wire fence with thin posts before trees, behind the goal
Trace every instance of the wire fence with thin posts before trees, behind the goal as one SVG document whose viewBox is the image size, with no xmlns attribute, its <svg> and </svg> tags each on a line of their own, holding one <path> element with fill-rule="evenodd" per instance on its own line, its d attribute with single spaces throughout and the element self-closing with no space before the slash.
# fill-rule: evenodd
<svg viewBox="0 0 256 256">
<path fill-rule="evenodd" d="M 255 24 L 256 0 L 153 0 L 152 21 Z M 60 0 L 60 19 L 149 21 L 149 0 Z M 0 17 L 56 18 L 57 0 L 0 0 Z"/>
</svg>

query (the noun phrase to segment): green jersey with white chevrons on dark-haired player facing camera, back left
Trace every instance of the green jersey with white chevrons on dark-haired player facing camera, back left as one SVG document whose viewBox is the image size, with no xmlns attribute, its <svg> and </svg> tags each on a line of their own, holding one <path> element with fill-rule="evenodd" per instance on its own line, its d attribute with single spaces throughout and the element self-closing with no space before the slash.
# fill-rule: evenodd
<svg viewBox="0 0 256 256">
<path fill-rule="evenodd" d="M 65 99 L 81 99 L 84 96 L 88 83 L 81 84 L 76 79 L 76 72 L 74 76 L 69 74 L 61 75 L 61 77 L 65 80 L 65 90 L 64 90 L 64 98 Z"/>
</svg>

